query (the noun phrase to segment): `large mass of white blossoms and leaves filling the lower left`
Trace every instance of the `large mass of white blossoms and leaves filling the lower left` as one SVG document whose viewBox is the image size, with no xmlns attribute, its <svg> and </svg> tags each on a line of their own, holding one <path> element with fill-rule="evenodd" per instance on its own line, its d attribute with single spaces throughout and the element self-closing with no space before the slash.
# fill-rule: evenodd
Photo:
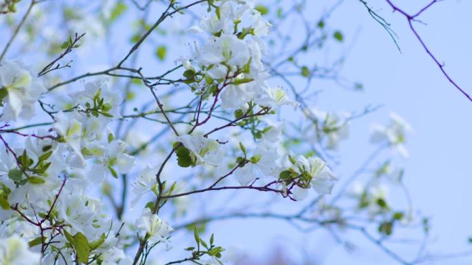
<svg viewBox="0 0 472 265">
<path fill-rule="evenodd" d="M 0 69 L 3 77 L 9 70 L 17 70 L 17 65 L 4 69 Z M 27 100 L 21 108 L 5 107 L 3 113 L 13 109 L 24 117 L 23 113 L 33 109 L 28 92 L 35 95 L 30 92 L 35 87 L 28 72 L 18 71 L 16 76 L 3 79 L 8 92 L 6 104 L 14 106 L 12 98 L 17 91 Z M 44 264 L 87 262 L 92 256 L 97 262 L 109 256 L 107 264 L 116 264 L 126 259 L 123 239 L 110 236 L 117 234 L 119 227 L 113 225 L 103 203 L 87 191 L 103 184 L 108 176 L 128 173 L 135 164 L 135 157 L 126 153 L 126 143 L 105 133 L 109 131 L 107 124 L 120 117 L 121 99 L 108 88 L 106 80 L 88 83 L 67 97 L 67 108 L 49 113 L 54 118 L 50 130 L 19 133 L 25 137 L 24 146 L 5 144 L 7 148 L 0 150 L 0 222 L 10 226 L 21 222 L 40 230 L 41 237 L 37 237 L 38 232 L 29 233 L 23 234 L 22 240 L 41 246 Z M 0 253 L 0 259 L 5 259 L 5 264 L 21 258 L 28 262 L 14 260 L 11 264 L 35 264 L 35 260 L 39 264 L 41 255 L 28 253 L 16 233 L 5 240 L 12 246 L 18 244 L 13 250 L 2 248 L 6 252 Z M 11 251 L 26 253 L 17 257 L 10 256 Z"/>
</svg>

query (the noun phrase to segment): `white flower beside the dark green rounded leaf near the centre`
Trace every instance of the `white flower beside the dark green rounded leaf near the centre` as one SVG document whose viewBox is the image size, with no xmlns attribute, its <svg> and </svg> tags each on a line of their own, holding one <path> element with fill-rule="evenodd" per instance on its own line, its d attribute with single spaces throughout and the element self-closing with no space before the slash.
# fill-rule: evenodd
<svg viewBox="0 0 472 265">
<path fill-rule="evenodd" d="M 217 141 L 203 135 L 181 135 L 176 137 L 195 156 L 196 164 L 217 166 L 223 156 L 223 150 Z"/>
</svg>

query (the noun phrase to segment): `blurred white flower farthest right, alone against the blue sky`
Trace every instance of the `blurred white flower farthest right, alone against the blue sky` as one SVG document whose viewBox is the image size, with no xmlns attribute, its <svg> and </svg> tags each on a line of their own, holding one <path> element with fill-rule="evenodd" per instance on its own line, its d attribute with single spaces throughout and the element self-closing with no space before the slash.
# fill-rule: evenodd
<svg viewBox="0 0 472 265">
<path fill-rule="evenodd" d="M 402 117 L 395 113 L 390 114 L 391 123 L 389 126 L 375 125 L 371 141 L 373 143 L 388 142 L 400 155 L 408 157 L 408 150 L 404 145 L 406 133 L 410 132 L 411 126 Z"/>
</svg>

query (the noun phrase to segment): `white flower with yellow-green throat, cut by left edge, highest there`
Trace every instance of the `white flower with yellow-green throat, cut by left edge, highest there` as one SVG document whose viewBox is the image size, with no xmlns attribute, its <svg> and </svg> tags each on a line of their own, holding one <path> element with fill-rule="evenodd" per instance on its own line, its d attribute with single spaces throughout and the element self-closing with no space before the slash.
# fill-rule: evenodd
<svg viewBox="0 0 472 265">
<path fill-rule="evenodd" d="M 35 115 L 35 102 L 46 88 L 32 77 L 20 63 L 4 60 L 0 64 L 0 119 L 16 121 L 18 117 L 30 119 Z"/>
</svg>

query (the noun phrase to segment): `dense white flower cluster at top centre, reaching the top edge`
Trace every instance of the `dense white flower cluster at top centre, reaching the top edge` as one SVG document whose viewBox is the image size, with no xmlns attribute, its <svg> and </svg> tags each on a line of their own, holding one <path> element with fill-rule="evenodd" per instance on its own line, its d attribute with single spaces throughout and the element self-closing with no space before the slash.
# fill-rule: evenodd
<svg viewBox="0 0 472 265">
<path fill-rule="evenodd" d="M 210 37 L 203 46 L 192 48 L 192 56 L 181 59 L 188 77 L 201 75 L 206 86 L 215 86 L 223 108 L 244 108 L 249 101 L 296 108 L 297 102 L 289 100 L 284 90 L 271 88 L 266 81 L 270 75 L 262 63 L 267 50 L 262 37 L 268 35 L 271 24 L 252 1 L 215 1 L 213 8 L 215 12 L 192 28 Z"/>
</svg>

